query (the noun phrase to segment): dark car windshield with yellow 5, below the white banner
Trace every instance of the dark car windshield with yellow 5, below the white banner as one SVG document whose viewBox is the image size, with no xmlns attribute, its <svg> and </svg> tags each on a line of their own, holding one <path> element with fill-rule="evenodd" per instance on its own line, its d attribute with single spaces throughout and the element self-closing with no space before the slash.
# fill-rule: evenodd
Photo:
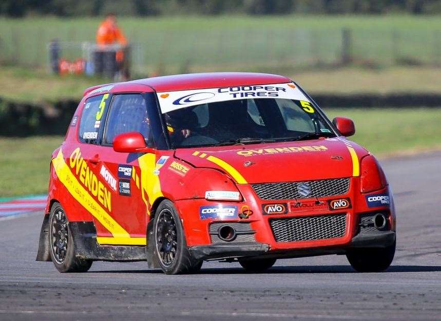
<svg viewBox="0 0 441 321">
<path fill-rule="evenodd" d="M 164 114 L 172 148 L 335 137 L 308 101 L 240 99 L 205 103 Z"/>
</svg>

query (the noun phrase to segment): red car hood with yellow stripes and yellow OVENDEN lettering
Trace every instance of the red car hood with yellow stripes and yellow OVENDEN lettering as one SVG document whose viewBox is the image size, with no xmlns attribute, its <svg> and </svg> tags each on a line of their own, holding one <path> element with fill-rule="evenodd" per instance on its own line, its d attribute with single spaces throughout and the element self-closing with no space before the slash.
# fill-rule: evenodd
<svg viewBox="0 0 441 321">
<path fill-rule="evenodd" d="M 358 176 L 359 160 L 367 154 L 366 149 L 339 137 L 179 148 L 175 156 L 195 167 L 220 169 L 246 184 Z"/>
</svg>

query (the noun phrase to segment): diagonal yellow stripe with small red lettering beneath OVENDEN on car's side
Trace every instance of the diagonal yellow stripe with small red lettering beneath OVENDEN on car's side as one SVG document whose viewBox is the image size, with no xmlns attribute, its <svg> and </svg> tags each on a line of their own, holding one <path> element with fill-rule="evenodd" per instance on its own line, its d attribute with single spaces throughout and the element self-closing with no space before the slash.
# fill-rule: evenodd
<svg viewBox="0 0 441 321">
<path fill-rule="evenodd" d="M 95 199 L 87 192 L 87 190 L 80 184 L 76 177 L 72 174 L 69 166 L 64 161 L 62 150 L 52 160 L 53 168 L 56 176 L 66 186 L 69 193 L 76 199 L 94 218 L 96 218 L 112 235 L 106 239 L 114 239 L 112 244 L 117 244 L 119 241 L 124 241 L 118 244 L 132 244 L 132 238 L 129 233 L 125 231 L 104 209 L 95 201 Z M 97 237 L 99 240 L 99 237 Z M 99 241 L 98 241 L 99 242 Z M 135 242 L 141 242 L 135 240 Z M 110 244 L 110 243 L 107 243 Z"/>
</svg>

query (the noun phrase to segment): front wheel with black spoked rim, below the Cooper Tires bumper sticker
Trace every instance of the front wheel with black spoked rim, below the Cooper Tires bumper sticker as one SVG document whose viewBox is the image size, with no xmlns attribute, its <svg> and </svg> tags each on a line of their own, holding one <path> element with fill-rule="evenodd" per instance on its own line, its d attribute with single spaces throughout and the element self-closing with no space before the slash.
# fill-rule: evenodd
<svg viewBox="0 0 441 321">
<path fill-rule="evenodd" d="M 165 274 L 197 273 L 203 261 L 188 251 L 178 212 L 169 200 L 162 201 L 154 219 L 155 255 Z"/>
</svg>

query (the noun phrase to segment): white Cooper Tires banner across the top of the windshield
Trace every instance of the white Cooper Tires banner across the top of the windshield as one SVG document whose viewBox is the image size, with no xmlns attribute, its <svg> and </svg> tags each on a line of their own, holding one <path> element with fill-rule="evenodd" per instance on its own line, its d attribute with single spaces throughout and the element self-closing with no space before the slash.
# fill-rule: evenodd
<svg viewBox="0 0 441 321">
<path fill-rule="evenodd" d="M 252 98 L 309 101 L 293 83 L 158 92 L 158 100 L 163 114 L 172 110 L 205 103 Z"/>
</svg>

